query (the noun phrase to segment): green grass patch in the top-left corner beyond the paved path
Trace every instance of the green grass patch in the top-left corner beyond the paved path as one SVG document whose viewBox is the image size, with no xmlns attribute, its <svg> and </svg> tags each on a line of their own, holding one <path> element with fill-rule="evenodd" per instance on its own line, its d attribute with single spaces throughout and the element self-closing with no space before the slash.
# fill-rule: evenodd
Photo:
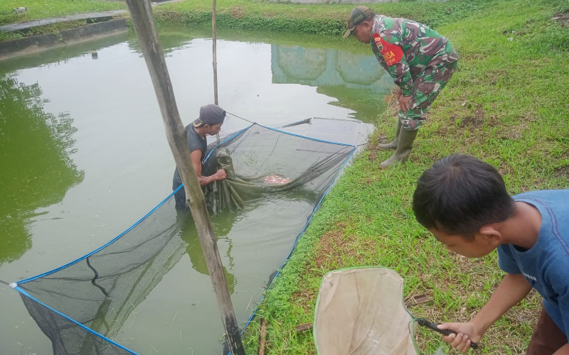
<svg viewBox="0 0 569 355">
<path fill-rule="evenodd" d="M 29 11 L 18 17 L 12 11 L 15 7 L 26 6 Z M 127 9 L 122 1 L 93 0 L 2 0 L 0 1 L 0 25 L 38 20 L 39 18 L 58 17 L 74 13 Z"/>
</svg>

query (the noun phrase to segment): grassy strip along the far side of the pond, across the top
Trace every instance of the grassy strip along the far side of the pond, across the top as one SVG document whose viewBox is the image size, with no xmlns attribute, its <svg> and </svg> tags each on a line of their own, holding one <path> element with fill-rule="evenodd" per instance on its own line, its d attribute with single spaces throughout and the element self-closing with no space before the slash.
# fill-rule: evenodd
<svg viewBox="0 0 569 355">
<path fill-rule="evenodd" d="M 413 18 L 436 27 L 482 11 L 491 4 L 491 1 L 454 0 L 418 6 L 418 2 L 412 0 L 393 4 L 376 4 L 373 7 L 386 14 Z M 30 0 L 26 2 L 26 7 L 29 9 L 28 13 L 25 16 L 16 17 L 13 13 L 9 13 L 16 6 L 21 5 L 16 5 L 15 1 L 10 0 L 0 7 L 0 25 L 73 13 L 127 9 L 122 1 Z M 159 25 L 178 24 L 211 27 L 211 7 L 211 1 L 186 0 L 174 4 L 161 4 L 154 7 L 153 11 L 156 16 L 156 23 Z M 338 35 L 345 31 L 346 13 L 349 13 L 352 7 L 351 4 L 301 5 L 271 4 L 266 0 L 220 0 L 217 1 L 217 25 L 218 28 Z M 58 31 L 77 28 L 85 24 L 85 21 L 70 21 L 33 28 L 31 31 L 0 31 L 0 41 L 43 33 L 58 33 Z"/>
</svg>

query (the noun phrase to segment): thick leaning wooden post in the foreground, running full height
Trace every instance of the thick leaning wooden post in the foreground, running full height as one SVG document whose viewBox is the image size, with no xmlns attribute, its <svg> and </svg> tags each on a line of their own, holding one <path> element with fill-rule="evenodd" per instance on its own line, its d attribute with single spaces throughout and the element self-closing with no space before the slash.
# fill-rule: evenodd
<svg viewBox="0 0 569 355">
<path fill-rule="evenodd" d="M 156 31 L 150 1 L 127 0 L 127 5 L 132 15 L 134 30 L 137 33 L 142 53 L 144 53 L 144 59 L 147 62 L 152 84 L 154 84 L 154 92 L 156 92 L 156 99 L 158 99 L 166 129 L 166 137 L 184 183 L 191 215 L 196 222 L 198 237 L 203 254 L 206 257 L 213 290 L 216 292 L 221 320 L 231 354 L 245 355 L 227 280 L 225 280 L 225 273 L 223 273 L 216 235 L 213 233 L 213 226 L 209 219 L 206 199 L 203 197 L 196 171 L 191 163 L 188 142 L 186 141 L 186 129 L 184 129 L 178 107 L 176 107 L 174 91 Z"/>
</svg>

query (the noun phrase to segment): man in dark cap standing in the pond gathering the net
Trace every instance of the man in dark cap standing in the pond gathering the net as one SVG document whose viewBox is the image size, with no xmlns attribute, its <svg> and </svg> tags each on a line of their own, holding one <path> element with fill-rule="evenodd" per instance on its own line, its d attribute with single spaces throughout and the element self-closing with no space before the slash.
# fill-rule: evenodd
<svg viewBox="0 0 569 355">
<path fill-rule="evenodd" d="M 206 136 L 215 136 L 219 133 L 224 119 L 225 111 L 218 105 L 209 104 L 201 107 L 198 119 L 186 126 L 191 161 L 193 169 L 196 170 L 196 175 L 198 175 L 200 186 L 206 186 L 211 184 L 211 182 L 223 180 L 227 177 L 223 169 L 218 170 L 211 176 L 201 175 L 203 160 L 206 158 L 206 151 L 208 150 Z M 174 179 L 172 180 L 172 190 L 176 190 L 181 183 L 180 173 L 178 172 L 178 167 L 176 167 Z M 176 198 L 176 208 L 186 208 L 186 192 L 183 187 L 174 193 L 174 197 Z"/>
</svg>

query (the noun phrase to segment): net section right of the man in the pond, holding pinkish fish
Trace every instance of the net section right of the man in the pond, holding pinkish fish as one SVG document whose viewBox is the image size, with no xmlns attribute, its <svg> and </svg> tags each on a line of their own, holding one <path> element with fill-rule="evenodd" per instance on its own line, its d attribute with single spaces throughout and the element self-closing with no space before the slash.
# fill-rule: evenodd
<svg viewBox="0 0 569 355">
<path fill-rule="evenodd" d="M 218 169 L 227 173 L 225 180 L 206 187 L 208 207 L 213 212 L 239 208 L 262 194 L 294 189 L 321 194 L 352 151 L 352 146 L 253 125 L 220 144 L 204 165 L 206 176 Z"/>
</svg>

